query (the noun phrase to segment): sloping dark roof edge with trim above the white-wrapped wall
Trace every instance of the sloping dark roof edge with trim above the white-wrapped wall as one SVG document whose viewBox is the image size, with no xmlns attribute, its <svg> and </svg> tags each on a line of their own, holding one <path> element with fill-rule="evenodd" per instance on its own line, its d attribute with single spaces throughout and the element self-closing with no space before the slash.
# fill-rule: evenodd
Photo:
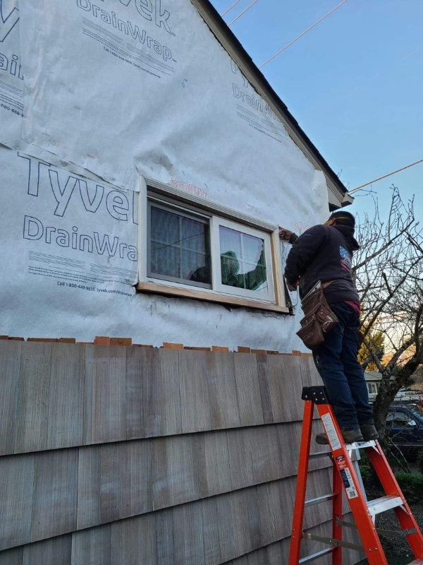
<svg viewBox="0 0 423 565">
<path fill-rule="evenodd" d="M 224 49 L 232 57 L 235 64 L 238 65 L 247 81 L 252 85 L 259 95 L 268 102 L 274 109 L 278 117 L 282 120 L 283 125 L 288 131 L 290 137 L 298 145 L 302 153 L 312 162 L 316 169 L 324 172 L 326 184 L 328 186 L 329 204 L 331 209 L 341 206 L 348 206 L 353 203 L 353 198 L 347 194 L 345 185 L 341 182 L 335 172 L 329 167 L 328 163 L 321 156 L 316 146 L 302 130 L 298 121 L 289 112 L 286 105 L 278 97 L 274 89 L 259 71 L 255 63 L 253 63 L 250 55 L 245 51 L 242 44 L 235 37 L 233 32 L 225 21 L 221 18 L 214 6 L 209 0 L 191 0 L 200 16 L 214 33 L 216 39 L 221 43 Z"/>
</svg>

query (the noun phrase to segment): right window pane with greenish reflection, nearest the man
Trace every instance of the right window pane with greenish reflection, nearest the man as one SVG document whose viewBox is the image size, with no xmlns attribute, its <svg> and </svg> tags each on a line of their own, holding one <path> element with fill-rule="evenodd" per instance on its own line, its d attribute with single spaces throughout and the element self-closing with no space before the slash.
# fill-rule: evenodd
<svg viewBox="0 0 423 565">
<path fill-rule="evenodd" d="M 245 290 L 267 288 L 264 240 L 219 226 L 222 285 Z"/>
</svg>

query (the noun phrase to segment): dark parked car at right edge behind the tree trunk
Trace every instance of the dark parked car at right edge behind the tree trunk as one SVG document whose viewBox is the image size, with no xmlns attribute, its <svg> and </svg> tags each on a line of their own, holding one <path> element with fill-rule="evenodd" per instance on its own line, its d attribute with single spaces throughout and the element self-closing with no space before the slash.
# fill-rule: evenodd
<svg viewBox="0 0 423 565">
<path fill-rule="evenodd" d="M 407 459 L 415 460 L 423 449 L 423 414 L 415 404 L 391 405 L 386 417 L 386 434 Z"/>
</svg>

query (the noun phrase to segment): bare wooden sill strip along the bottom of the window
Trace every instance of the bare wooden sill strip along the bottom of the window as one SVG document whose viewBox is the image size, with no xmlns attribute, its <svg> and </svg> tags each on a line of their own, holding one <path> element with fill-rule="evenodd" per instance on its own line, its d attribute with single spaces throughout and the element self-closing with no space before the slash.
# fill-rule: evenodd
<svg viewBox="0 0 423 565">
<path fill-rule="evenodd" d="M 217 302 L 218 304 L 233 304 L 233 306 L 257 308 L 259 310 L 278 312 L 279 314 L 290 314 L 289 308 L 276 306 L 276 304 L 267 304 L 266 302 L 256 302 L 255 300 L 248 300 L 245 298 L 216 295 L 211 292 L 178 288 L 170 285 L 161 285 L 159 283 L 138 283 L 136 289 L 140 292 L 146 293 L 150 292 L 159 295 L 171 295 L 183 298 L 192 298 L 195 300 L 207 300 L 208 302 Z"/>
</svg>

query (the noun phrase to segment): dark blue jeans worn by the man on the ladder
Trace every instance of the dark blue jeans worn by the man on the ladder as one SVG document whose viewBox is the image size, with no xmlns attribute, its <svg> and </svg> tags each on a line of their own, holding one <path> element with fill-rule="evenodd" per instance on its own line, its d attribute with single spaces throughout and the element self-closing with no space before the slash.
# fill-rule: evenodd
<svg viewBox="0 0 423 565">
<path fill-rule="evenodd" d="M 345 302 L 331 304 L 331 309 L 338 323 L 313 350 L 314 363 L 341 429 L 374 424 L 364 371 L 357 360 L 359 314 Z"/>
</svg>

